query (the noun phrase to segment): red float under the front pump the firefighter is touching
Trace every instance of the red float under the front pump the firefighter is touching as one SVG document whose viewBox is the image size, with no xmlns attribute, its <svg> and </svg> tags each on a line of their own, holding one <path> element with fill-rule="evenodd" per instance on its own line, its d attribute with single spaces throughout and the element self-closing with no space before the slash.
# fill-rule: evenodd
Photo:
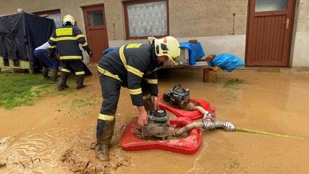
<svg viewBox="0 0 309 174">
<path fill-rule="evenodd" d="M 134 117 L 126 126 L 120 140 L 120 147 L 124 151 L 147 151 L 147 150 L 163 150 L 179 154 L 192 155 L 195 154 L 202 141 L 202 133 L 199 129 L 192 129 L 188 132 L 188 137 L 177 140 L 165 141 L 147 141 L 138 139 L 135 136 L 134 128 L 137 124 L 138 117 Z M 171 118 L 169 119 L 170 129 L 182 128 L 183 126 L 192 123 L 186 118 Z"/>
</svg>

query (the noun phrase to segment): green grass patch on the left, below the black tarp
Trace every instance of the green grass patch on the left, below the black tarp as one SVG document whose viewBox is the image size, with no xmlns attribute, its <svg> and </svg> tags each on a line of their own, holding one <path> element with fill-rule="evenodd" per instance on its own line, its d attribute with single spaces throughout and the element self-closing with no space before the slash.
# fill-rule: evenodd
<svg viewBox="0 0 309 174">
<path fill-rule="evenodd" d="M 13 109 L 18 106 L 32 106 L 34 99 L 54 88 L 49 79 L 41 74 L 0 73 L 0 107 Z"/>
</svg>

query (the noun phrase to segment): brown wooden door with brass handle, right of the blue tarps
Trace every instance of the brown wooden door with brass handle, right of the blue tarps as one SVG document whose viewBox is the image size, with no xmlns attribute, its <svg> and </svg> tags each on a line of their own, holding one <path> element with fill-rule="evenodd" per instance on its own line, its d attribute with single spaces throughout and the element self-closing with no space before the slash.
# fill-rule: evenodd
<svg viewBox="0 0 309 174">
<path fill-rule="evenodd" d="M 247 66 L 289 66 L 295 1 L 249 0 Z"/>
</svg>

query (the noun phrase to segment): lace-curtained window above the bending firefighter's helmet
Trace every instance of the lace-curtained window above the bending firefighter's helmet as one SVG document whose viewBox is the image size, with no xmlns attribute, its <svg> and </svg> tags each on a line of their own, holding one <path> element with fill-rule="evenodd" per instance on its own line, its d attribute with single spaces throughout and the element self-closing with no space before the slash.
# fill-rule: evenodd
<svg viewBox="0 0 309 174">
<path fill-rule="evenodd" d="M 168 35 L 167 0 L 124 2 L 127 39 Z"/>
</svg>

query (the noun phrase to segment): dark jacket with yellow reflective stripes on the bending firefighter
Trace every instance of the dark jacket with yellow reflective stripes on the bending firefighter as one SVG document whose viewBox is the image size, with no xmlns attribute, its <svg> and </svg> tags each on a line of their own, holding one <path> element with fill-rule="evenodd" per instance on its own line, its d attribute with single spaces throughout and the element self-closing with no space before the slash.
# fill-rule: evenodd
<svg viewBox="0 0 309 174">
<path fill-rule="evenodd" d="M 150 94 L 157 96 L 158 67 L 152 44 L 124 45 L 105 54 L 98 64 L 99 72 L 120 80 L 123 86 L 129 88 L 135 106 L 144 105 L 142 80 L 148 82 Z"/>
</svg>

